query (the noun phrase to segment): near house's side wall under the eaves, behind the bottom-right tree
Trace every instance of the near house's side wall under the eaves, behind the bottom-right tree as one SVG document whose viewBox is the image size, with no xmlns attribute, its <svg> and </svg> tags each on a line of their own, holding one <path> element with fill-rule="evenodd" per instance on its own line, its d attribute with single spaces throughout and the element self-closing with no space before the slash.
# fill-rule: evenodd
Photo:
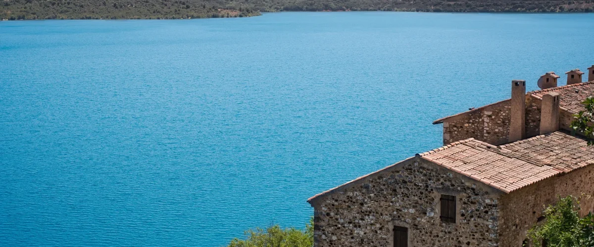
<svg viewBox="0 0 594 247">
<path fill-rule="evenodd" d="M 500 246 L 522 246 L 526 231 L 542 216 L 544 205 L 555 203 L 559 196 L 594 195 L 592 181 L 594 166 L 591 165 L 503 195 L 500 200 Z M 584 197 L 581 207 L 582 216 L 594 211 L 594 198 Z"/>
</svg>

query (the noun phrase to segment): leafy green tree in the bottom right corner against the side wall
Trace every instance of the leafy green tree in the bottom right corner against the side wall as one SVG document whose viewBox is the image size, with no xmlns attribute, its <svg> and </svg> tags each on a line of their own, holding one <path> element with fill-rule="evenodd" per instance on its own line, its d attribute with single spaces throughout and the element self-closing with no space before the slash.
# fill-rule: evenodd
<svg viewBox="0 0 594 247">
<path fill-rule="evenodd" d="M 580 218 L 579 210 L 579 198 L 571 195 L 546 207 L 546 221 L 528 231 L 533 246 L 542 246 L 543 240 L 548 246 L 556 247 L 594 246 L 594 215 L 590 212 Z"/>
</svg>

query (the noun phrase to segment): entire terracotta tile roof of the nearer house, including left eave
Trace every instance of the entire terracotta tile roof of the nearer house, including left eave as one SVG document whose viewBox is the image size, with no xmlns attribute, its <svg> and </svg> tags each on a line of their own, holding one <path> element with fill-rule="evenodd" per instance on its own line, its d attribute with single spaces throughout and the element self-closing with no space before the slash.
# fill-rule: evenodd
<svg viewBox="0 0 594 247">
<path fill-rule="evenodd" d="M 557 174 L 591 165 L 594 163 L 594 147 L 587 146 L 586 140 L 579 137 L 556 131 L 501 146 L 470 138 L 419 153 L 418 156 L 504 193 L 511 193 Z M 308 202 L 371 175 L 389 171 L 409 159 L 314 195 Z"/>
</svg>

